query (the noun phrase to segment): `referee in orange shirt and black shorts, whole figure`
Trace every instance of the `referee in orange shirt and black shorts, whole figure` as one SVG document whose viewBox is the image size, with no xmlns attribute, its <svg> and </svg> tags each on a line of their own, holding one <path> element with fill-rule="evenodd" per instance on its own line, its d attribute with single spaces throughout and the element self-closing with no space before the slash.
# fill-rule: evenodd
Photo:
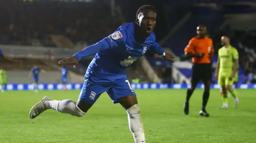
<svg viewBox="0 0 256 143">
<path fill-rule="evenodd" d="M 212 82 L 212 64 L 210 58 L 214 56 L 214 48 L 212 39 L 206 37 L 207 29 L 205 25 L 197 27 L 198 36 L 192 38 L 184 50 L 185 57 L 191 58 L 193 62 L 191 74 L 191 87 L 188 88 L 186 94 L 186 102 L 184 104 L 184 113 L 189 114 L 189 100 L 192 96 L 198 82 L 202 79 L 204 82 L 204 94 L 202 109 L 199 114 L 201 116 L 210 116 L 206 112 L 206 105 L 210 96 L 210 84 Z"/>
</svg>

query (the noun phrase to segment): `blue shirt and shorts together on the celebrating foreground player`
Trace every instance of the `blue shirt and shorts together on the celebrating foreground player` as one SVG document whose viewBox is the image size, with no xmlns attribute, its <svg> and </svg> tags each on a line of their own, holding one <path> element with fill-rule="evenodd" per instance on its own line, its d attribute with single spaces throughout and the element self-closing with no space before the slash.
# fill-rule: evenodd
<svg viewBox="0 0 256 143">
<path fill-rule="evenodd" d="M 135 39 L 135 26 L 136 23 L 121 25 L 108 37 L 73 55 L 80 60 L 96 54 L 86 71 L 79 100 L 94 104 L 105 91 L 114 103 L 125 96 L 136 96 L 126 77 L 126 68 L 148 50 L 158 55 L 164 55 L 164 51 L 156 43 L 154 32 L 146 40 Z"/>
</svg>

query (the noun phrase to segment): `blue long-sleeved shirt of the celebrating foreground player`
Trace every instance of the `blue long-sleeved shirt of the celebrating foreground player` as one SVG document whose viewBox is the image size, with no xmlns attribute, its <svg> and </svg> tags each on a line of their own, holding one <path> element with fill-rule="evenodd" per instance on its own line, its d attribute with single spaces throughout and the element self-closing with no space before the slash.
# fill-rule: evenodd
<svg viewBox="0 0 256 143">
<path fill-rule="evenodd" d="M 126 78 L 126 68 L 148 50 L 158 55 L 164 54 L 161 46 L 156 43 L 154 32 L 145 41 L 136 40 L 134 37 L 135 26 L 136 23 L 121 25 L 114 33 L 98 42 L 103 47 L 91 61 L 85 76 L 102 79 Z M 98 43 L 92 46 L 95 46 L 96 49 Z M 83 56 L 87 56 L 88 50 L 86 50 L 87 48 L 76 53 L 74 57 L 80 60 Z"/>
</svg>

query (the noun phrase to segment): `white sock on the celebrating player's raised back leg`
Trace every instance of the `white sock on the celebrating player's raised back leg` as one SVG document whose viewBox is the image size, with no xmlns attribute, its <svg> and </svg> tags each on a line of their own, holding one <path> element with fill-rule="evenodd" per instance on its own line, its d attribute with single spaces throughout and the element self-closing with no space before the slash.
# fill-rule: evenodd
<svg viewBox="0 0 256 143">
<path fill-rule="evenodd" d="M 73 102 L 72 100 L 52 100 L 46 101 L 45 104 L 48 109 L 54 109 L 58 112 L 70 114 L 72 116 L 82 117 L 85 114 L 78 108 L 76 102 Z"/>
</svg>

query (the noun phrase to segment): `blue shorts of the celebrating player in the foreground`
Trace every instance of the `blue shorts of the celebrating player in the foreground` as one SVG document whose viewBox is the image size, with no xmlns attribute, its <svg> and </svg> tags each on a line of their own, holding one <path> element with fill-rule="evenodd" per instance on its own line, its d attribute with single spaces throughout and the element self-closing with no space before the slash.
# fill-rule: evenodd
<svg viewBox="0 0 256 143">
<path fill-rule="evenodd" d="M 94 104 L 105 91 L 108 93 L 108 96 L 112 99 L 113 103 L 118 103 L 117 99 L 125 96 L 136 96 L 127 78 L 99 79 L 86 76 L 79 100 Z"/>
</svg>

